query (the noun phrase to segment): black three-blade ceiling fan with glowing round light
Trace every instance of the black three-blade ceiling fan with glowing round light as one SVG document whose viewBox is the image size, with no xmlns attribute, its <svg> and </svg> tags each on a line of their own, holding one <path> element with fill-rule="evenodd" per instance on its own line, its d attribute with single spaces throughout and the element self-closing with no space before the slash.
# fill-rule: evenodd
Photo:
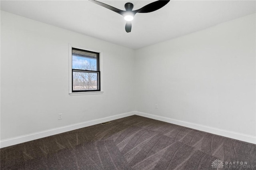
<svg viewBox="0 0 256 170">
<path fill-rule="evenodd" d="M 133 8 L 133 4 L 128 2 L 124 5 L 125 11 L 124 10 L 120 10 L 117 8 L 114 8 L 113 6 L 104 4 L 102 2 L 96 1 L 96 0 L 89 0 L 91 2 L 94 2 L 95 4 L 98 4 L 100 6 L 103 6 L 105 8 L 108 8 L 122 16 L 124 16 L 124 20 L 126 20 L 126 24 L 125 24 L 125 30 L 126 32 L 131 32 L 132 30 L 132 20 L 134 18 L 134 15 L 136 13 L 148 13 L 148 12 L 153 12 L 156 10 L 159 10 L 160 8 L 162 8 L 163 6 L 165 6 L 168 2 L 170 2 L 170 0 L 158 0 L 155 2 L 152 2 L 138 10 L 134 10 L 132 11 Z"/>
</svg>

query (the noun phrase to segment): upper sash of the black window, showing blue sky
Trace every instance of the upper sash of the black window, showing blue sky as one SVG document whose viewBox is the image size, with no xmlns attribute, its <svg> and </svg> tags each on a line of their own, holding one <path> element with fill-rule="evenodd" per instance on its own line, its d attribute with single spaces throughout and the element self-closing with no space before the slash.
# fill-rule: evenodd
<svg viewBox="0 0 256 170">
<path fill-rule="evenodd" d="M 72 69 L 98 71 L 97 59 L 97 53 L 72 49 Z"/>
</svg>

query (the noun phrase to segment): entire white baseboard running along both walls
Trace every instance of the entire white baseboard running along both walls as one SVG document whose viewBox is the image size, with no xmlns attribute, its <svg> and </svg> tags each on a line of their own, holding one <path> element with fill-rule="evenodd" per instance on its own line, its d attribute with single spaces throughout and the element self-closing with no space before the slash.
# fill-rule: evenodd
<svg viewBox="0 0 256 170">
<path fill-rule="evenodd" d="M 142 117 L 148 117 L 151 119 L 155 119 L 158 121 L 163 121 L 163 122 L 167 122 L 167 123 L 172 123 L 175 125 L 180 125 L 180 126 L 184 126 L 184 127 L 188 127 L 188 128 L 193 128 L 196 130 L 201 130 L 204 132 L 209 132 L 212 134 L 217 134 L 220 136 L 225 136 L 228 138 L 233 138 L 233 139 L 237 139 L 237 140 L 242 140 L 244 142 L 250 142 L 253 144 L 256 144 L 256 136 L 251 136 L 251 135 L 247 135 L 247 134 L 242 134 L 242 133 L 237 133 L 237 132 L 232 132 L 232 131 L 228 131 L 228 130 L 222 130 L 222 129 L 218 129 L 218 128 L 214 128 L 214 127 L 208 127 L 208 126 L 204 126 L 204 125 L 199 125 L 199 124 L 195 124 L 195 123 L 190 123 L 190 122 L 186 122 L 186 121 L 180 121 L 180 120 L 176 120 L 176 119 L 171 119 L 168 117 L 161 117 L 161 116 L 157 116 L 157 115 L 151 115 L 148 113 L 143 113 L 143 112 L 138 112 L 138 111 L 134 111 L 134 112 L 128 112 L 128 113 L 123 113 L 123 114 L 119 114 L 119 115 L 114 115 L 114 116 L 110 116 L 110 117 L 104 117 L 101 119 L 95 119 L 92 121 L 86 121 L 86 122 L 82 122 L 82 123 L 77 123 L 74 125 L 68 125 L 65 127 L 59 127 L 59 128 L 54 128 L 54 129 L 50 129 L 50 130 L 45 130 L 42 132 L 36 132 L 36 133 L 32 133 L 32 134 L 27 134 L 27 135 L 23 135 L 23 136 L 18 136 L 15 138 L 9 138 L 9 139 L 5 139 L 5 140 L 1 140 L 0 141 L 0 148 L 4 148 L 7 146 L 12 146 L 15 144 L 20 144 L 23 142 L 28 142 L 31 140 L 36 140 L 39 138 L 44 138 L 47 136 L 52 136 L 54 134 L 60 134 L 63 132 L 68 132 L 70 130 L 76 130 L 78 128 L 84 128 L 84 127 L 88 127 L 88 126 L 92 126 L 92 125 L 97 125 L 99 123 L 103 123 L 103 122 L 107 122 L 107 121 L 112 121 L 115 119 L 120 119 L 123 117 L 128 117 L 128 116 L 132 116 L 132 115 L 139 115 Z"/>
</svg>

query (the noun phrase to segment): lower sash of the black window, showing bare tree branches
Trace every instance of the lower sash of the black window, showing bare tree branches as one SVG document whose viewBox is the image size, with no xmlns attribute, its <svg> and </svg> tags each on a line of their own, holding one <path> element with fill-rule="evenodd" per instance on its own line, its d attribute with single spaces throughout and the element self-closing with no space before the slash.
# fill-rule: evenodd
<svg viewBox="0 0 256 170">
<path fill-rule="evenodd" d="M 98 73 L 73 71 L 73 91 L 98 90 Z"/>
</svg>

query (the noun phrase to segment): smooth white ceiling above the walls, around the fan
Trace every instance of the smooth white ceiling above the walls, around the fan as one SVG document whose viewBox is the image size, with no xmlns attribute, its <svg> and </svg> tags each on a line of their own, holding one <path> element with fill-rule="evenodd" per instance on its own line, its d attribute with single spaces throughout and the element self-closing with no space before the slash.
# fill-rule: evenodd
<svg viewBox="0 0 256 170">
<path fill-rule="evenodd" d="M 125 10 L 126 2 L 131 2 L 136 10 L 155 0 L 99 1 L 121 10 Z M 130 33 L 124 29 L 125 20 L 121 15 L 88 0 L 1 0 L 1 10 L 138 49 L 253 14 L 256 1 L 171 0 L 160 10 L 137 13 Z"/>
</svg>

